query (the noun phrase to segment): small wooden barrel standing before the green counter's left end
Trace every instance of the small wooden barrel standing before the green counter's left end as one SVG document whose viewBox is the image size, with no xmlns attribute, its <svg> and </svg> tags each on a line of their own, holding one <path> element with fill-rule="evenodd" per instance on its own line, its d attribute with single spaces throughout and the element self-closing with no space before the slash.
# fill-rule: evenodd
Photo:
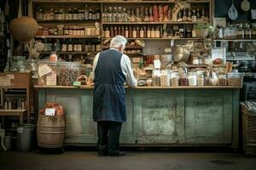
<svg viewBox="0 0 256 170">
<path fill-rule="evenodd" d="M 65 116 L 38 116 L 38 146 L 44 148 L 63 147 L 66 122 Z"/>
</svg>

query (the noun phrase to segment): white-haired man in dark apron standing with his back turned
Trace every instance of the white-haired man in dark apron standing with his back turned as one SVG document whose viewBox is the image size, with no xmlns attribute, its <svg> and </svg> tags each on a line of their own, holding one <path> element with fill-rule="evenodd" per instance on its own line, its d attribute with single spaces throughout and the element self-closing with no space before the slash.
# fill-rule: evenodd
<svg viewBox="0 0 256 170">
<path fill-rule="evenodd" d="M 110 48 L 96 54 L 93 62 L 93 119 L 97 122 L 98 156 L 125 155 L 119 151 L 119 134 L 122 122 L 126 121 L 124 82 L 137 86 L 131 60 L 123 54 L 126 42 L 125 37 L 113 37 Z"/>
</svg>

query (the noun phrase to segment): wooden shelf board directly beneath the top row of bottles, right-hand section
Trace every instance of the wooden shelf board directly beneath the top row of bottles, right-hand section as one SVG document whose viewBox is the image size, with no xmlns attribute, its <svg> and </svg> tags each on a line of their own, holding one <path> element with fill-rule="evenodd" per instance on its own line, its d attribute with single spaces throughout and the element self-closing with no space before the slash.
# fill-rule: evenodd
<svg viewBox="0 0 256 170">
<path fill-rule="evenodd" d="M 207 23 L 207 22 L 102 22 L 102 25 L 163 25 L 163 24 L 186 24 L 186 25 L 194 25 L 198 23 Z"/>
</svg>

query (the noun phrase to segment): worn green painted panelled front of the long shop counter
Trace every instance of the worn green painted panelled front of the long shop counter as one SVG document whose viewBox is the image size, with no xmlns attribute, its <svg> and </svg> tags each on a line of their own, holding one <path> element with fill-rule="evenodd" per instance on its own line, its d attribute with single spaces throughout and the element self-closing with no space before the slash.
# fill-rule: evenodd
<svg viewBox="0 0 256 170">
<path fill-rule="evenodd" d="M 67 145 L 96 144 L 90 87 L 39 87 L 38 108 L 64 106 Z M 238 148 L 241 87 L 126 88 L 127 122 L 120 137 L 129 145 L 228 145 Z"/>
</svg>

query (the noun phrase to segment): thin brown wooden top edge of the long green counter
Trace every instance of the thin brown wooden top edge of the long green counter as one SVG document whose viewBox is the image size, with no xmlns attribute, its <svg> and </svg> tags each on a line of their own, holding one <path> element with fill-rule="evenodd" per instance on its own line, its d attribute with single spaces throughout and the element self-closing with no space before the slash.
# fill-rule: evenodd
<svg viewBox="0 0 256 170">
<path fill-rule="evenodd" d="M 34 86 L 34 88 L 84 88 L 84 89 L 92 89 L 92 86 L 81 86 L 81 87 L 73 87 L 73 86 Z M 134 89 L 232 89 L 232 88 L 242 88 L 241 86 L 177 86 L 177 87 L 137 87 Z"/>
</svg>

